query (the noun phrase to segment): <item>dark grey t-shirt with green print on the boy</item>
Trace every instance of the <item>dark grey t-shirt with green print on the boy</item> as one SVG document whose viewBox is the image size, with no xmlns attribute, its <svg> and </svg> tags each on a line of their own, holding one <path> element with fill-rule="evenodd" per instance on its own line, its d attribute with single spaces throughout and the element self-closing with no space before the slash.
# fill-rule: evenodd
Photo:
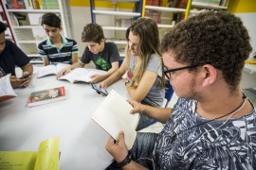
<svg viewBox="0 0 256 170">
<path fill-rule="evenodd" d="M 89 63 L 92 60 L 97 69 L 108 71 L 112 68 L 111 63 L 119 61 L 119 59 L 119 50 L 116 43 L 105 42 L 104 49 L 98 54 L 93 54 L 86 46 L 82 54 L 81 61 L 83 63 Z"/>
</svg>

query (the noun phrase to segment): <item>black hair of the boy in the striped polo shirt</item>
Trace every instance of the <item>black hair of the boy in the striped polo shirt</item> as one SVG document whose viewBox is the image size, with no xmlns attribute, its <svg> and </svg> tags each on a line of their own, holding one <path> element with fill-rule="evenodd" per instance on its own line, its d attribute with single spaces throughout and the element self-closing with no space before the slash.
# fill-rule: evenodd
<svg viewBox="0 0 256 170">
<path fill-rule="evenodd" d="M 42 16 L 41 26 L 43 25 L 52 26 L 52 27 L 61 27 L 62 20 L 55 13 L 48 12 Z"/>
</svg>

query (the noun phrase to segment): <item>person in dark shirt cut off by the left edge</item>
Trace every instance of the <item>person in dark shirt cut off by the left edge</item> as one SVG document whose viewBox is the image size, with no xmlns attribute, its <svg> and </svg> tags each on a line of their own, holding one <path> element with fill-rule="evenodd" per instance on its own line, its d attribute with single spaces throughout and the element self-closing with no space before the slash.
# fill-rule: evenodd
<svg viewBox="0 0 256 170">
<path fill-rule="evenodd" d="M 33 66 L 27 55 L 13 42 L 6 40 L 5 31 L 7 26 L 0 22 L 0 76 L 11 74 L 10 83 L 13 88 L 27 87 L 31 76 L 18 78 L 15 73 L 17 65 L 23 71 L 23 76 L 32 75 Z"/>
</svg>

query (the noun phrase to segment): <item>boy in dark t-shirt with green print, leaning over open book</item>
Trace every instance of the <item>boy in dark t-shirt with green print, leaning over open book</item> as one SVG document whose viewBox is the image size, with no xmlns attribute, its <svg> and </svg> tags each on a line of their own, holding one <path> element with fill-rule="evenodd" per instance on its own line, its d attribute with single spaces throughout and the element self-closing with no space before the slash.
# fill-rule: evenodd
<svg viewBox="0 0 256 170">
<path fill-rule="evenodd" d="M 91 60 L 95 63 L 96 69 L 107 71 L 103 75 L 91 76 L 91 83 L 97 83 L 107 78 L 119 69 L 119 50 L 114 42 L 105 42 L 102 27 L 97 24 L 88 24 L 82 30 L 82 42 L 86 47 L 81 60 L 66 66 L 58 73 L 58 77 L 63 76 L 74 68 L 84 67 Z"/>
</svg>

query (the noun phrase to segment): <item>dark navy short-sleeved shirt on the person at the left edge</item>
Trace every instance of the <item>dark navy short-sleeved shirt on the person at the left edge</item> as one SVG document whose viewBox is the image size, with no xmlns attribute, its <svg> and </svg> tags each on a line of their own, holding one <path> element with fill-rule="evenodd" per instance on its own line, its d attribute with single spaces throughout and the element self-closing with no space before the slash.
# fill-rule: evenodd
<svg viewBox="0 0 256 170">
<path fill-rule="evenodd" d="M 0 72 L 4 76 L 15 74 L 15 66 L 24 67 L 29 62 L 27 55 L 13 42 L 6 40 L 6 47 L 0 54 Z"/>
</svg>

